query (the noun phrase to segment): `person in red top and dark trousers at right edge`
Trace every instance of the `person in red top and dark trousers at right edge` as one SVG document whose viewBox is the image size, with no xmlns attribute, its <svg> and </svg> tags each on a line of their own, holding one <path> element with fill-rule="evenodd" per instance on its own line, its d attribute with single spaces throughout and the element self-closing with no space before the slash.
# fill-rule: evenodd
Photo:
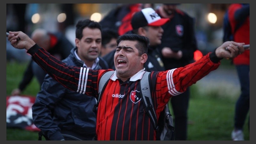
<svg viewBox="0 0 256 144">
<path fill-rule="evenodd" d="M 250 4 L 231 4 L 228 8 L 228 18 L 235 42 L 250 44 Z M 235 31 L 236 25 L 243 21 Z M 235 31 L 235 33 L 234 33 Z M 236 101 L 234 130 L 231 133 L 232 140 L 244 140 L 243 127 L 250 110 L 250 50 L 232 59 L 239 77 L 241 94 Z M 250 118 L 248 118 L 250 130 Z"/>
</svg>

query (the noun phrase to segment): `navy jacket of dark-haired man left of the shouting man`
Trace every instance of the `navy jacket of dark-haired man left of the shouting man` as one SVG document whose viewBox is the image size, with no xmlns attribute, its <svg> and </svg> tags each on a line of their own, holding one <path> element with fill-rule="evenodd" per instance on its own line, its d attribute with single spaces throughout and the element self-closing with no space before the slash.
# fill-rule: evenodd
<svg viewBox="0 0 256 144">
<path fill-rule="evenodd" d="M 74 54 L 76 49 L 63 62 L 83 67 L 83 61 Z M 97 69 L 107 68 L 106 61 L 100 58 Z M 32 106 L 33 121 L 50 140 L 63 140 L 63 134 L 88 140 L 96 133 L 95 104 L 94 97 L 70 91 L 47 74 Z"/>
</svg>

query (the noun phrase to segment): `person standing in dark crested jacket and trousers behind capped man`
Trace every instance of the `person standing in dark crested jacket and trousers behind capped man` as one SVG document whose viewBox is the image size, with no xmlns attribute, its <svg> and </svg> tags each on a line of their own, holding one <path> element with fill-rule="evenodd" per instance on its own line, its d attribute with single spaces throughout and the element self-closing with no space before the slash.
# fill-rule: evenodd
<svg viewBox="0 0 256 144">
<path fill-rule="evenodd" d="M 177 9 L 178 4 L 162 4 L 156 8 L 161 18 L 168 18 L 165 23 L 162 43 L 158 47 L 162 53 L 164 67 L 167 69 L 183 67 L 194 62 L 194 52 L 197 50 L 194 19 L 186 12 Z M 173 97 L 171 102 L 174 114 L 175 140 L 187 140 L 189 87 L 179 97 Z"/>
</svg>

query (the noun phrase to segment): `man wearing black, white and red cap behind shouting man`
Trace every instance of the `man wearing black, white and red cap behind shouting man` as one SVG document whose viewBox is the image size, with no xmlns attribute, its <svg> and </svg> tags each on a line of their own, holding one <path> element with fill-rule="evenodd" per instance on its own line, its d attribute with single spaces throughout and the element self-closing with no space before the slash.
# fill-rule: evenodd
<svg viewBox="0 0 256 144">
<path fill-rule="evenodd" d="M 164 32 L 161 26 L 167 21 L 169 21 L 169 19 L 160 18 L 152 8 L 142 9 L 140 12 L 136 12 L 132 17 L 131 24 L 133 30 L 128 31 L 127 34 L 138 34 L 148 37 L 150 46 L 148 47 L 148 60 L 144 64 L 144 68 L 149 72 L 165 70 L 161 53 L 158 51 L 157 46 L 161 44 Z M 112 63 L 110 68 L 115 68 L 113 65 L 115 52 L 116 50 L 103 57 L 108 64 Z"/>
</svg>

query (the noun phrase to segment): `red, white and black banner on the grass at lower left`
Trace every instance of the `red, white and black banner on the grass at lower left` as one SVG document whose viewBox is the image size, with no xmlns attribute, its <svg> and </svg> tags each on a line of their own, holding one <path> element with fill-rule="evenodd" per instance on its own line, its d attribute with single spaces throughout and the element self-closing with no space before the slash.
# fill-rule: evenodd
<svg viewBox="0 0 256 144">
<path fill-rule="evenodd" d="M 6 128 L 20 128 L 28 131 L 40 131 L 33 123 L 32 105 L 36 97 L 6 97 Z"/>
</svg>

